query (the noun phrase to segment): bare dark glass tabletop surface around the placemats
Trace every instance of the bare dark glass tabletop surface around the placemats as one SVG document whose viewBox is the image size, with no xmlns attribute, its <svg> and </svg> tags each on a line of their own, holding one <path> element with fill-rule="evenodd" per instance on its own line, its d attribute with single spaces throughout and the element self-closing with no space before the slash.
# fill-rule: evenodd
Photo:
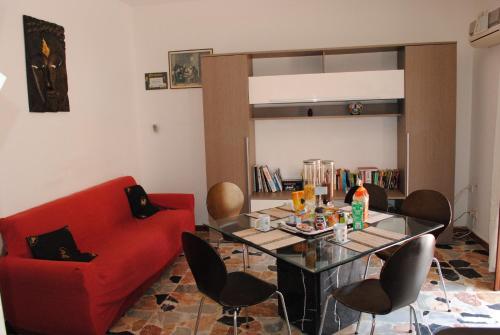
<svg viewBox="0 0 500 335">
<path fill-rule="evenodd" d="M 353 260 L 361 258 L 365 255 L 403 243 L 443 227 L 441 223 L 437 222 L 426 221 L 394 213 L 389 214 L 391 214 L 392 217 L 385 218 L 376 223 L 369 224 L 368 226 L 404 234 L 406 236 L 378 247 L 370 247 L 369 250 L 364 252 L 354 251 L 343 245 L 329 241 L 333 237 L 332 231 L 316 235 L 314 237 L 297 234 L 297 236 L 304 238 L 304 240 L 283 248 L 268 250 L 256 243 L 252 243 L 235 235 L 235 233 L 242 230 L 255 228 L 256 220 L 245 214 L 227 219 L 211 220 L 206 225 L 210 229 L 216 230 L 232 240 L 247 244 L 252 248 L 260 250 L 312 273 L 326 271 L 339 265 L 352 262 Z"/>
</svg>

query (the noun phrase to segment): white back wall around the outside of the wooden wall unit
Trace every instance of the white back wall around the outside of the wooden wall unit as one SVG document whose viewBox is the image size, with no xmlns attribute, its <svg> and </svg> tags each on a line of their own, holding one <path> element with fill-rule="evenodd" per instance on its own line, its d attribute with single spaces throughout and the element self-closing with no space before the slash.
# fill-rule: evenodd
<svg viewBox="0 0 500 335">
<path fill-rule="evenodd" d="M 467 32 L 469 22 L 479 10 L 479 1 L 127 2 L 137 5 L 134 89 L 138 92 L 141 115 L 144 184 L 148 188 L 194 192 L 198 223 L 206 220 L 201 89 L 146 92 L 142 82 L 145 72 L 167 71 L 169 50 L 208 47 L 222 53 L 458 41 L 455 193 L 469 185 L 473 50 Z M 160 126 L 158 134 L 151 131 L 153 123 Z M 341 159 L 336 152 L 332 156 L 329 158 Z M 456 197 L 456 213 L 467 210 L 467 203 L 468 193 L 460 192 Z"/>
</svg>

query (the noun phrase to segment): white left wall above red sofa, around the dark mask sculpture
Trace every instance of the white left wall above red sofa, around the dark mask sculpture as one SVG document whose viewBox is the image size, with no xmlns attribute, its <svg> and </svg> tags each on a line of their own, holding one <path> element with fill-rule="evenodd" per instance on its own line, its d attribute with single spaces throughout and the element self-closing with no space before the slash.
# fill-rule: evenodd
<svg viewBox="0 0 500 335">
<path fill-rule="evenodd" d="M 69 113 L 29 113 L 22 15 L 66 33 Z M 137 174 L 131 8 L 118 0 L 0 1 L 0 217 Z"/>
</svg>

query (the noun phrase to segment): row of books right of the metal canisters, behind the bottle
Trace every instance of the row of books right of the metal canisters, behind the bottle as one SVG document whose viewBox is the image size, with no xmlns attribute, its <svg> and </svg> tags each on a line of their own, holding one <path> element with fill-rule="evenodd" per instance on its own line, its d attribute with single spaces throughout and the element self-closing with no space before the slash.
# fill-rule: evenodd
<svg viewBox="0 0 500 335">
<path fill-rule="evenodd" d="M 364 184 L 375 184 L 387 190 L 399 188 L 399 170 L 379 170 L 375 167 L 360 167 L 356 172 L 351 172 L 348 169 L 338 169 L 336 190 L 346 193 L 349 188 L 356 186 L 359 179 Z"/>
</svg>

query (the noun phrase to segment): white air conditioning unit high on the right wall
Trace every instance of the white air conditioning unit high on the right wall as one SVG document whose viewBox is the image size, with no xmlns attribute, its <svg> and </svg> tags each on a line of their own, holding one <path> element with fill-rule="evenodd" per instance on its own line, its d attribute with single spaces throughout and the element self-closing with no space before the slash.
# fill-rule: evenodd
<svg viewBox="0 0 500 335">
<path fill-rule="evenodd" d="M 474 48 L 489 48 L 500 44 L 500 7 L 482 12 L 469 25 L 469 41 Z"/>
</svg>

